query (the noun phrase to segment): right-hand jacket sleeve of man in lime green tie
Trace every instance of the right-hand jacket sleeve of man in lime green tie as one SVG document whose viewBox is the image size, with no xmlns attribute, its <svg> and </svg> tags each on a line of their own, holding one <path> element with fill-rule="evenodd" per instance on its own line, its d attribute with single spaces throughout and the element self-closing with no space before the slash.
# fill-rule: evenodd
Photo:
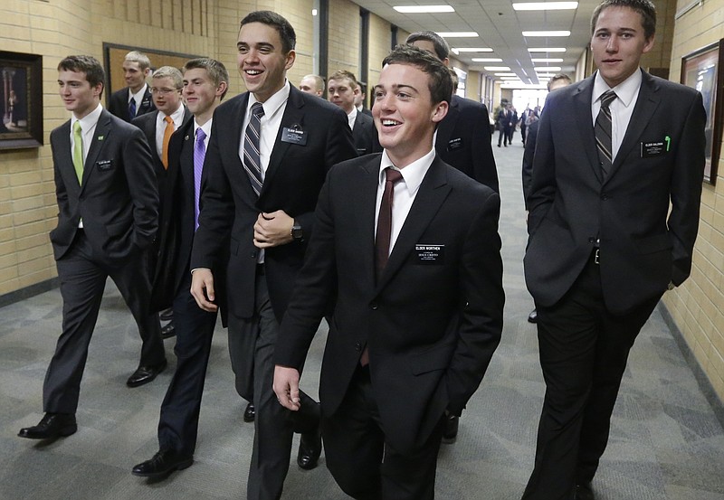
<svg viewBox="0 0 724 500">
<path fill-rule="evenodd" d="M 156 238 L 159 202 L 151 148 L 138 128 L 129 132 L 123 158 L 133 203 L 133 241 L 138 248 L 146 249 Z"/>
</svg>

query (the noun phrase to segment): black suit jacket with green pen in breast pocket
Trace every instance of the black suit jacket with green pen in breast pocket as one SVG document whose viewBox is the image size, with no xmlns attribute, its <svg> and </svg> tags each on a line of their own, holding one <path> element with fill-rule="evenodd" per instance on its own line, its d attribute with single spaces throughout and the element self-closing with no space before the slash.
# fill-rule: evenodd
<svg viewBox="0 0 724 500">
<path fill-rule="evenodd" d="M 571 287 L 597 236 L 601 287 L 614 314 L 689 276 L 706 114 L 698 91 L 642 72 L 631 121 L 605 179 L 591 116 L 595 75 L 548 96 L 533 160 L 525 257 L 529 291 L 544 307 Z M 651 143 L 663 146 L 645 155 Z"/>
</svg>

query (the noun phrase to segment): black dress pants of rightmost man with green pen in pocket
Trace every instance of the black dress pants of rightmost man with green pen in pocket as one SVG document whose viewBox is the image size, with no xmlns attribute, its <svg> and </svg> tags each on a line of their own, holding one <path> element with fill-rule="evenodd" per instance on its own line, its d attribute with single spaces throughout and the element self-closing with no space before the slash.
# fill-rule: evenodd
<svg viewBox="0 0 724 500">
<path fill-rule="evenodd" d="M 576 484 L 594 478 L 629 351 L 659 298 L 612 315 L 592 257 L 556 305 L 536 304 L 546 396 L 524 499 L 567 500 Z"/>
</svg>

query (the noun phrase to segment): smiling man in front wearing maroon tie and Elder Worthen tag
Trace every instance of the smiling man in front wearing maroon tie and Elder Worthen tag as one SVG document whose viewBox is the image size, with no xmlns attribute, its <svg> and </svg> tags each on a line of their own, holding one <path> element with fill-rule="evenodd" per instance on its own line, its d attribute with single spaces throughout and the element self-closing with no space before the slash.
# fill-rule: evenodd
<svg viewBox="0 0 724 500">
<path fill-rule="evenodd" d="M 385 149 L 329 172 L 274 392 L 304 407 L 300 372 L 333 307 L 319 382 L 327 466 L 354 498 L 429 500 L 444 422 L 500 342 L 500 197 L 436 156 L 452 95 L 441 61 L 404 45 L 383 65 L 372 113 Z"/>
</svg>

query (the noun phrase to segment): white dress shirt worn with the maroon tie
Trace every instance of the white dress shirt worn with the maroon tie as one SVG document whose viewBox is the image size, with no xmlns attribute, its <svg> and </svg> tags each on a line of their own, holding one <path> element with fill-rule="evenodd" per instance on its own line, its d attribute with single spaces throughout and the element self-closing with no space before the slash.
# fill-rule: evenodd
<svg viewBox="0 0 724 500">
<path fill-rule="evenodd" d="M 410 212 L 410 208 L 413 206 L 414 197 L 417 196 L 417 192 L 420 190 L 420 184 L 423 184 L 424 175 L 430 169 L 430 165 L 433 165 L 435 158 L 435 149 L 423 156 L 422 158 L 415 160 L 405 168 L 398 169 L 387 156 L 387 150 L 382 152 L 379 164 L 379 181 L 377 184 L 377 200 L 375 206 L 375 234 L 377 233 L 377 219 L 379 219 L 379 205 L 382 202 L 382 194 L 385 192 L 386 174 L 385 169 L 388 166 L 395 166 L 395 170 L 399 170 L 402 174 L 402 179 L 395 184 L 395 192 L 392 200 L 392 228 L 390 231 L 390 253 L 395 248 L 395 241 L 402 231 L 402 226 L 405 225 L 407 214 Z"/>
</svg>

